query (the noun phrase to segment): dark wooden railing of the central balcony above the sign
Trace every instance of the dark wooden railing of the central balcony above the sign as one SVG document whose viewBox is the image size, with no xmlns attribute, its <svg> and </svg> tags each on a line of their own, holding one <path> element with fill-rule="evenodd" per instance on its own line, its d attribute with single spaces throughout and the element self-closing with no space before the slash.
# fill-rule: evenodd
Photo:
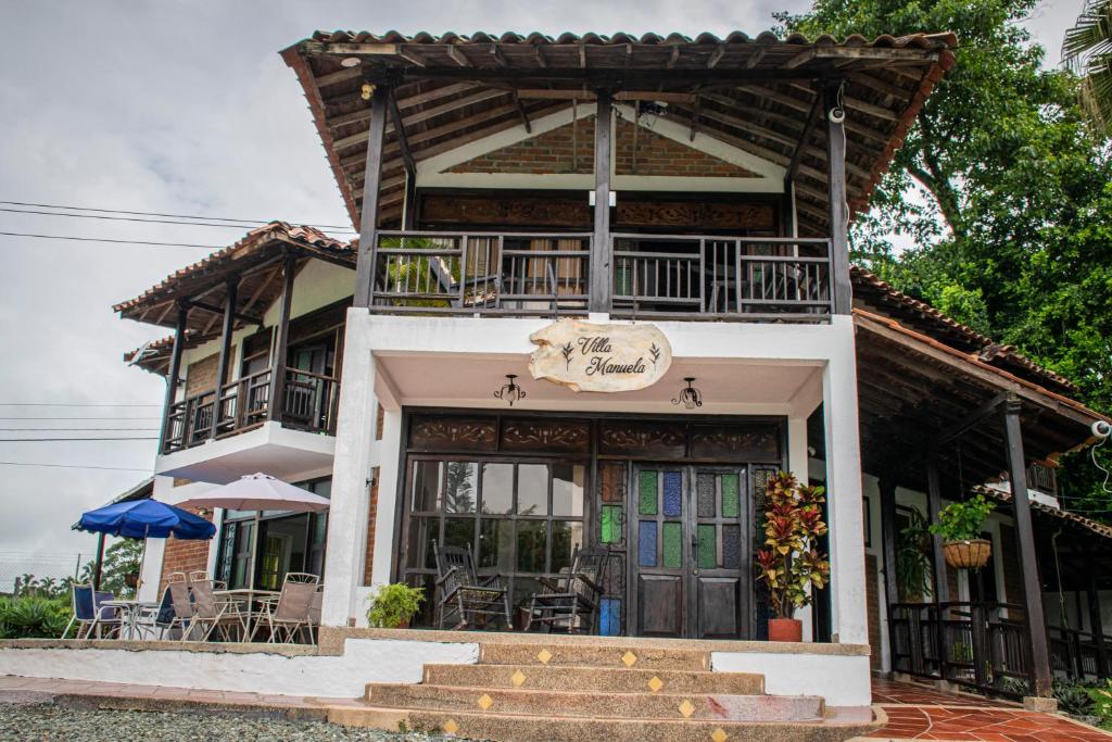
<svg viewBox="0 0 1112 742">
<path fill-rule="evenodd" d="M 831 240 L 612 234 L 379 231 L 370 310 L 826 321 Z"/>
</svg>

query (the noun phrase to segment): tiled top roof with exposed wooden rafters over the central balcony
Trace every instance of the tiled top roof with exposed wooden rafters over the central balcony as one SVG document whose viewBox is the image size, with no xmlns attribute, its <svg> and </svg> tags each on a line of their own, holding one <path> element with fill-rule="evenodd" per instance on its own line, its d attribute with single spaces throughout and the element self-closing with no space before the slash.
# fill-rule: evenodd
<svg viewBox="0 0 1112 742">
<path fill-rule="evenodd" d="M 851 209 L 865 207 L 926 96 L 954 61 L 952 33 L 868 41 L 793 34 L 618 33 L 552 38 L 506 33 L 413 37 L 318 31 L 281 52 L 309 101 L 329 164 L 358 228 L 370 120 L 365 82 L 396 85 L 397 119 L 416 161 L 592 100 L 597 89 L 663 100 L 662 116 L 770 162 L 795 165 L 802 235 L 827 231 L 826 81 L 844 80 Z M 353 66 L 345 66 L 353 65 Z M 379 190 L 381 226 L 405 195 L 396 120 L 387 125 Z"/>
</svg>

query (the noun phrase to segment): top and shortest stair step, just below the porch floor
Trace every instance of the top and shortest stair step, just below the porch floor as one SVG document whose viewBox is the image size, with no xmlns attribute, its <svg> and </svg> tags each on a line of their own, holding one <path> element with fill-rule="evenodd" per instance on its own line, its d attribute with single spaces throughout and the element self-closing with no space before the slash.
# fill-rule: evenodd
<svg viewBox="0 0 1112 742">
<path fill-rule="evenodd" d="M 595 665 L 637 670 L 711 669 L 709 653 L 699 650 L 602 644 L 486 643 L 480 645 L 479 651 L 481 664 Z"/>
</svg>

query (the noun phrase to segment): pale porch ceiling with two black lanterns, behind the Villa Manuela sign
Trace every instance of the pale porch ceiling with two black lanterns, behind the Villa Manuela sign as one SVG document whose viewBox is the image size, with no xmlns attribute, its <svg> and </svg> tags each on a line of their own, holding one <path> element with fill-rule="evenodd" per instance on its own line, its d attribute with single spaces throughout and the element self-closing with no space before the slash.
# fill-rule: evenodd
<svg viewBox="0 0 1112 742">
<path fill-rule="evenodd" d="M 529 356 L 525 354 L 376 355 L 376 359 L 379 396 L 385 392 L 398 405 L 504 405 L 494 398 L 494 392 L 506 383 L 506 374 L 517 374 L 527 396 L 515 409 L 775 414 L 774 407 L 783 413 L 786 405 L 801 398 L 797 395 L 806 396 L 821 384 L 821 369 L 816 366 L 677 358 L 667 374 L 648 388 L 622 394 L 575 393 L 552 382 L 533 379 L 528 372 Z M 699 409 L 687 410 L 672 404 L 684 386 L 685 376 L 694 376 L 695 386 L 703 393 L 704 404 Z"/>
</svg>

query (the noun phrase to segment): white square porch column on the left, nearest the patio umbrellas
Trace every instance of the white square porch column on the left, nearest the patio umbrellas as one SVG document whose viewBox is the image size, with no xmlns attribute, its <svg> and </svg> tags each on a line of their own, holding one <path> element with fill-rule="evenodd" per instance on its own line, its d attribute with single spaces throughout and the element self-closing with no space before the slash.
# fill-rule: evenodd
<svg viewBox="0 0 1112 742">
<path fill-rule="evenodd" d="M 370 456 L 375 443 L 375 359 L 364 323 L 366 309 L 348 309 L 328 513 L 328 551 L 320 623 L 346 626 L 355 617 L 353 601 L 363 585 L 370 499 Z"/>
</svg>

